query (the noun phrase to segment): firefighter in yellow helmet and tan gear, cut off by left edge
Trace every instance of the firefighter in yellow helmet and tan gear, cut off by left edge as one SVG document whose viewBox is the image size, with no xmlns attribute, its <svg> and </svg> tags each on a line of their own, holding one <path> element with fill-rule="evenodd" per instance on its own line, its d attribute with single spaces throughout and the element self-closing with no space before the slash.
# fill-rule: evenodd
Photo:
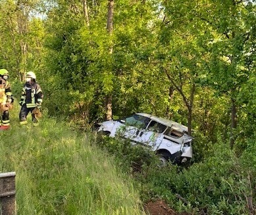
<svg viewBox="0 0 256 215">
<path fill-rule="evenodd" d="M 9 73 L 7 69 L 0 69 L 0 130 L 5 130 L 10 127 L 9 109 L 13 106 L 13 94 L 11 85 L 7 79 Z"/>
</svg>

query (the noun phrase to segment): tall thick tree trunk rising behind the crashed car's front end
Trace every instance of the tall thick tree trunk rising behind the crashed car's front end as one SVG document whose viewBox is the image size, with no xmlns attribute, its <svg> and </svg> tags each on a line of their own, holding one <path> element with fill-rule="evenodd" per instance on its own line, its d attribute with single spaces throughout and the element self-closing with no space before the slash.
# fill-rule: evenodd
<svg viewBox="0 0 256 215">
<path fill-rule="evenodd" d="M 113 33 L 113 16 L 114 16 L 114 0 L 109 0 L 108 12 L 107 12 L 107 31 L 109 31 L 109 37 Z M 113 45 L 109 47 L 109 54 L 113 54 Z M 112 119 L 112 93 L 109 92 L 105 98 L 106 102 L 106 119 Z"/>
</svg>

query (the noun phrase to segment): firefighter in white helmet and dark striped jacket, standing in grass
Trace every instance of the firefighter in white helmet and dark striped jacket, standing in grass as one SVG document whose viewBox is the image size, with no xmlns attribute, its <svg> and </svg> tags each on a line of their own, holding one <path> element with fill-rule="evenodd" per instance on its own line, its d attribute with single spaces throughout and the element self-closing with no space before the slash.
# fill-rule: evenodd
<svg viewBox="0 0 256 215">
<path fill-rule="evenodd" d="M 28 123 L 27 115 L 31 112 L 32 123 L 38 126 L 38 115 L 41 113 L 41 102 L 43 102 L 43 92 L 36 82 L 36 74 L 33 71 L 26 73 L 26 83 L 22 88 L 20 97 L 20 125 Z"/>
</svg>

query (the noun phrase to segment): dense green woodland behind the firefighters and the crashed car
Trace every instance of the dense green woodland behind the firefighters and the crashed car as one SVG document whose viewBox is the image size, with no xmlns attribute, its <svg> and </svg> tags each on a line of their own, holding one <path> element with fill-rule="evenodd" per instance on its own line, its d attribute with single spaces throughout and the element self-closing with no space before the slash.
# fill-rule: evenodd
<svg viewBox="0 0 256 215">
<path fill-rule="evenodd" d="M 254 0 L 0 0 L 17 99 L 34 71 L 49 115 L 88 128 L 152 113 L 188 125 L 197 160 L 255 145 L 255 41 Z"/>
</svg>

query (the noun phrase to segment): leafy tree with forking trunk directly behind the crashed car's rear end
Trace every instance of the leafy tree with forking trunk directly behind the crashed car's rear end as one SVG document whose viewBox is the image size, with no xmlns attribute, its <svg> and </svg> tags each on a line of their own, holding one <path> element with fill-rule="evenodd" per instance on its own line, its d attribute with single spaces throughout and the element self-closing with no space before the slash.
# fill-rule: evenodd
<svg viewBox="0 0 256 215">
<path fill-rule="evenodd" d="M 188 110 L 189 134 L 192 134 L 193 100 L 205 58 L 199 45 L 204 27 L 190 13 L 195 4 L 164 1 L 159 31 L 159 64 Z"/>
</svg>

